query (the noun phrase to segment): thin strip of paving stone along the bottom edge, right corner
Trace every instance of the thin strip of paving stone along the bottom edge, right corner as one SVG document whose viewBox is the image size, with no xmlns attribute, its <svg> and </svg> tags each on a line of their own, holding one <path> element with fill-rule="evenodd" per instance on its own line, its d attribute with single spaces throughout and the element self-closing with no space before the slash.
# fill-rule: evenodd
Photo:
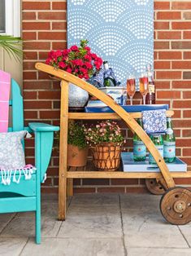
<svg viewBox="0 0 191 256">
<path fill-rule="evenodd" d="M 191 256 L 191 249 L 129 248 L 128 256 Z"/>
</svg>

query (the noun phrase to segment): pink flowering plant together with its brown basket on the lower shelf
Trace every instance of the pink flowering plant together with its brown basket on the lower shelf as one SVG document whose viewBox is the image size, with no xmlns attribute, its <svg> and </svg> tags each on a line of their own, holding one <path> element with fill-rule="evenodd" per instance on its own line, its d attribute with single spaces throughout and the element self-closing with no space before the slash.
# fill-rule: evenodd
<svg viewBox="0 0 191 256">
<path fill-rule="evenodd" d="M 120 163 L 124 136 L 115 121 L 101 121 L 96 126 L 85 127 L 85 138 L 98 170 L 117 170 Z"/>
</svg>

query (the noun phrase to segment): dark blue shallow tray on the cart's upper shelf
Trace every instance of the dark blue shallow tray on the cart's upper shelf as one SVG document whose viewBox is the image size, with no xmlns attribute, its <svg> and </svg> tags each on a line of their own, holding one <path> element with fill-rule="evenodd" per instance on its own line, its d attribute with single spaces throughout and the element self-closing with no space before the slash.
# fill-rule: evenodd
<svg viewBox="0 0 191 256">
<path fill-rule="evenodd" d="M 144 110 L 166 109 L 168 110 L 168 104 L 153 104 L 153 105 L 122 105 L 125 111 L 128 113 L 141 112 Z M 109 107 L 85 107 L 86 113 L 114 113 Z"/>
</svg>

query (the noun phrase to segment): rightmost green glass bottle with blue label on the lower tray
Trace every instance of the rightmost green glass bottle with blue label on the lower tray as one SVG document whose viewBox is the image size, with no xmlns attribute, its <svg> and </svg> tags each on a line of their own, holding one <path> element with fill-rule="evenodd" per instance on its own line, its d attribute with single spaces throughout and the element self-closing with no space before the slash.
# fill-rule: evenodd
<svg viewBox="0 0 191 256">
<path fill-rule="evenodd" d="M 176 138 L 171 126 L 171 118 L 167 117 L 167 133 L 164 135 L 164 161 L 171 163 L 176 157 Z"/>
</svg>

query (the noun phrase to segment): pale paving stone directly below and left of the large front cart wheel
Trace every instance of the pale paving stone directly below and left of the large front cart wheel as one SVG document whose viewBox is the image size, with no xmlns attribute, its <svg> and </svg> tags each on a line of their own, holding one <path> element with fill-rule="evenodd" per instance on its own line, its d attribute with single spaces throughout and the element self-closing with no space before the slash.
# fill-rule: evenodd
<svg viewBox="0 0 191 256">
<path fill-rule="evenodd" d="M 188 248 L 177 226 L 149 210 L 123 210 L 124 241 L 127 247 Z"/>
</svg>

